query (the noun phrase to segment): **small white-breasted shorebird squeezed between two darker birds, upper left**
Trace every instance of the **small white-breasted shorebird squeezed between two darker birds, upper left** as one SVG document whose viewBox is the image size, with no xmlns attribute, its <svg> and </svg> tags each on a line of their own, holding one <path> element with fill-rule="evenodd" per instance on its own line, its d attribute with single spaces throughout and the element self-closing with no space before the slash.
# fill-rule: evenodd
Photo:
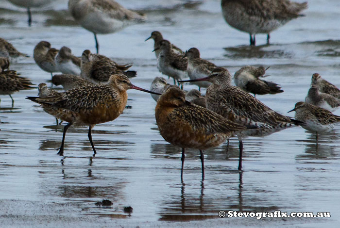
<svg viewBox="0 0 340 228">
<path fill-rule="evenodd" d="M 80 75 L 82 60 L 72 55 L 71 49 L 62 47 L 55 56 L 55 66 L 63 74 Z"/>
</svg>

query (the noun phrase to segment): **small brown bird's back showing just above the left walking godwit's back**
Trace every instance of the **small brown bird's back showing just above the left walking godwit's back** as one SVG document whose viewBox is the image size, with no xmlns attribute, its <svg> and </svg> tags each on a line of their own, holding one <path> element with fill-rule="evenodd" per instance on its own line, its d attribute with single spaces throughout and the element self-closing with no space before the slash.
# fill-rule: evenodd
<svg viewBox="0 0 340 228">
<path fill-rule="evenodd" d="M 65 90 L 74 89 L 74 88 L 77 88 L 77 87 L 83 86 L 83 85 L 93 84 L 92 82 L 87 81 L 86 79 L 83 79 L 80 76 L 71 75 L 71 74 L 56 74 L 56 75 L 53 75 L 52 83 L 54 85 L 62 85 Z"/>
</svg>

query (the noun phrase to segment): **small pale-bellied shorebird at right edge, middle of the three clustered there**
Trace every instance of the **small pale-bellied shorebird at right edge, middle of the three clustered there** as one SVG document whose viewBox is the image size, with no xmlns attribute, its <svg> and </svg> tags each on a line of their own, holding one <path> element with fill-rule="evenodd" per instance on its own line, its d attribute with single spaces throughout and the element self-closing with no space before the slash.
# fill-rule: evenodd
<svg viewBox="0 0 340 228">
<path fill-rule="evenodd" d="M 314 84 L 309 88 L 305 101 L 320 108 L 334 112 L 340 108 L 340 100 L 332 95 L 321 93 Z"/>
</svg>

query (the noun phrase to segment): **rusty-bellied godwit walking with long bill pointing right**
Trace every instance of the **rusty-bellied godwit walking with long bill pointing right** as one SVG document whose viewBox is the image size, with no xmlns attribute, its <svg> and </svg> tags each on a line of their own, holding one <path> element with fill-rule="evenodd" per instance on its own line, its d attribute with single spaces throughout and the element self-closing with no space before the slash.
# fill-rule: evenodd
<svg viewBox="0 0 340 228">
<path fill-rule="evenodd" d="M 87 136 L 93 152 L 96 154 L 91 130 L 96 124 L 112 121 L 123 112 L 128 98 L 126 93 L 128 89 L 153 93 L 133 85 L 125 75 L 115 74 L 110 77 L 108 84 L 85 85 L 60 93 L 57 96 L 27 97 L 27 99 L 51 108 L 70 111 L 68 114 L 55 113 L 55 117 L 68 122 L 64 127 L 59 155 L 64 155 L 65 135 L 71 125 L 89 126 Z"/>
</svg>

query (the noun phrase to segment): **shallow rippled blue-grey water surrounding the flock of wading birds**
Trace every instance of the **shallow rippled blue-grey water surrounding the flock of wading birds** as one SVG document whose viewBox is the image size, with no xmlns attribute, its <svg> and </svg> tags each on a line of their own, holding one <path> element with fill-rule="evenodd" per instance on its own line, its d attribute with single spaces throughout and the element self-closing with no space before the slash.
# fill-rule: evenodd
<svg viewBox="0 0 340 228">
<path fill-rule="evenodd" d="M 153 78 L 161 76 L 153 41 L 144 42 L 154 30 L 182 49 L 197 47 L 203 58 L 227 67 L 232 74 L 243 65 L 270 66 L 267 79 L 281 84 L 285 92 L 258 98 L 282 114 L 304 100 L 315 72 L 340 86 L 338 0 L 309 0 L 306 17 L 273 32 L 269 46 L 265 35 L 257 35 L 257 47 L 248 46 L 248 34 L 227 26 L 219 0 L 202 4 L 184 4 L 183 0 L 120 2 L 144 11 L 149 20 L 118 33 L 99 35 L 100 53 L 119 63 L 133 63 L 131 69 L 138 76 L 132 82 L 137 86 L 149 88 Z M 1 37 L 31 56 L 12 61 L 11 69 L 35 84 L 50 84 L 51 79 L 32 57 L 39 41 L 47 40 L 55 48 L 68 46 L 78 56 L 84 49 L 95 51 L 92 33 L 75 24 L 66 11 L 66 0 L 34 10 L 31 28 L 24 9 L 5 0 L 0 1 L 0 7 Z M 190 88 L 195 86 L 185 85 Z M 338 227 L 340 127 L 321 135 L 318 146 L 315 134 L 302 128 L 248 138 L 244 141 L 243 173 L 237 170 L 238 141 L 234 138 L 228 152 L 226 144 L 204 151 L 204 183 L 199 152 L 187 150 L 182 184 L 181 149 L 160 136 L 155 102 L 140 91 L 128 94 L 132 109 L 94 128 L 97 156 L 92 157 L 87 129 L 70 128 L 64 158 L 55 150 L 63 126 L 55 126 L 52 116 L 25 99 L 36 96 L 37 89 L 14 94 L 13 109 L 9 96 L 1 96 L 1 227 L 320 227 L 319 223 Z M 96 207 L 102 199 L 113 205 Z M 131 215 L 123 212 L 126 206 L 133 207 Z M 331 212 L 331 218 L 219 218 L 222 210 Z"/>
</svg>

